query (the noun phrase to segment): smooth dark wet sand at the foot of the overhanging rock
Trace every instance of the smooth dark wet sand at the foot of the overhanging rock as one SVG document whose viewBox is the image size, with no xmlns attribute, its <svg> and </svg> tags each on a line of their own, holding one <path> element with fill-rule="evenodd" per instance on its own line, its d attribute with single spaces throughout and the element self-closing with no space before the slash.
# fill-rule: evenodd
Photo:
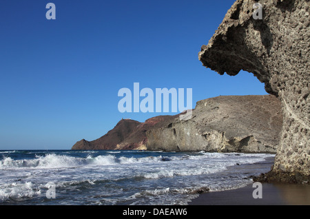
<svg viewBox="0 0 310 219">
<path fill-rule="evenodd" d="M 310 185 L 262 183 L 262 198 L 253 198 L 252 186 L 200 194 L 189 205 L 310 205 Z"/>
</svg>

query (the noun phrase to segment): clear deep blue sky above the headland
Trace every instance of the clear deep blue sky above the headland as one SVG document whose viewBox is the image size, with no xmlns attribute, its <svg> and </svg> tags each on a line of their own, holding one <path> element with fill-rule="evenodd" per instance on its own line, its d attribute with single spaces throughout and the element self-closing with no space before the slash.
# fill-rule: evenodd
<svg viewBox="0 0 310 219">
<path fill-rule="evenodd" d="M 49 2 L 56 20 L 45 18 Z M 220 76 L 198 60 L 233 3 L 1 0 L 0 149 L 70 149 L 121 118 L 164 114 L 118 112 L 118 90 L 135 82 L 154 91 L 192 88 L 193 106 L 266 94 L 253 74 Z"/>
</svg>

